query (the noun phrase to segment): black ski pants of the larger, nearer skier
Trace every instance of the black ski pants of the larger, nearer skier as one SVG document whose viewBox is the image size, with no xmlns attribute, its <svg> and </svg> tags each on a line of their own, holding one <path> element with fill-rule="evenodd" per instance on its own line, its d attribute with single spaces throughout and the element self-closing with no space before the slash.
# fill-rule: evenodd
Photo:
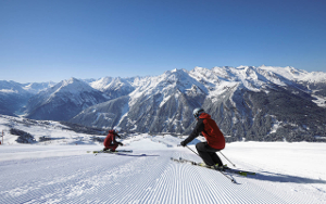
<svg viewBox="0 0 326 204">
<path fill-rule="evenodd" d="M 218 166 L 223 166 L 221 158 L 217 156 L 216 152 L 221 151 L 214 148 L 211 148 L 208 142 L 199 142 L 196 144 L 196 149 L 200 157 L 203 162 L 209 165 L 213 166 L 218 164 Z"/>
</svg>

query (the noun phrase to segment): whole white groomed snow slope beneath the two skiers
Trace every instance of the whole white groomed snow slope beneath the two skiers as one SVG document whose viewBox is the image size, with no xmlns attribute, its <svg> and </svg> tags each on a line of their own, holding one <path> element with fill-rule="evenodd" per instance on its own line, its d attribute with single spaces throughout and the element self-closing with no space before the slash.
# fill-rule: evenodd
<svg viewBox="0 0 326 204">
<path fill-rule="evenodd" d="M 179 141 L 140 135 L 120 148 L 133 153 L 98 155 L 86 151 L 100 144 L 1 145 L 0 203 L 326 202 L 324 143 L 227 144 L 223 153 L 238 168 L 258 173 L 233 175 L 235 184 L 218 171 L 172 162 L 172 156 L 201 162 L 176 146 Z"/>
</svg>

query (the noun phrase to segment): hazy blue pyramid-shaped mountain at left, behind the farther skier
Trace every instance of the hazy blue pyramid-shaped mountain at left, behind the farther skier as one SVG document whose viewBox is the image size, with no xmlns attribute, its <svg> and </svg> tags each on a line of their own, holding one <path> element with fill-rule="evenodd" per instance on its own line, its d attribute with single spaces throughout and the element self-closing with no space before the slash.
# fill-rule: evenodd
<svg viewBox="0 0 326 204">
<path fill-rule="evenodd" d="M 67 120 L 84 109 L 106 101 L 88 84 L 71 78 L 29 99 L 26 117 L 33 119 Z"/>
</svg>

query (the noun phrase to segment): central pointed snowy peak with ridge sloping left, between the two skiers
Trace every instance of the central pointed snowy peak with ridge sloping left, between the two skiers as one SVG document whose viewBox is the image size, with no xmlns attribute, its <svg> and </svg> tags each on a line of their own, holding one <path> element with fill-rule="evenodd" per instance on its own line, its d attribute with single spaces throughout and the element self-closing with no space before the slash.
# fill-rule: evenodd
<svg viewBox="0 0 326 204">
<path fill-rule="evenodd" d="M 192 123 L 192 109 L 200 106 L 206 88 L 186 71 L 156 77 L 135 78 L 135 90 L 84 110 L 71 122 L 96 127 L 120 124 L 134 131 L 183 132 Z"/>
</svg>

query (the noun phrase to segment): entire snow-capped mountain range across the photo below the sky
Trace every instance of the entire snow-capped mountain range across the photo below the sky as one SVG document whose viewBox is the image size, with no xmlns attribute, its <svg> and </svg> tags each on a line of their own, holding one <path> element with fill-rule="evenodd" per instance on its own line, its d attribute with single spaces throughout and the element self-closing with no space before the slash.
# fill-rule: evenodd
<svg viewBox="0 0 326 204">
<path fill-rule="evenodd" d="M 0 81 L 0 114 L 127 131 L 189 133 L 202 106 L 228 141 L 322 141 L 326 73 L 293 67 L 196 67 L 160 76 L 59 84 Z"/>
</svg>

